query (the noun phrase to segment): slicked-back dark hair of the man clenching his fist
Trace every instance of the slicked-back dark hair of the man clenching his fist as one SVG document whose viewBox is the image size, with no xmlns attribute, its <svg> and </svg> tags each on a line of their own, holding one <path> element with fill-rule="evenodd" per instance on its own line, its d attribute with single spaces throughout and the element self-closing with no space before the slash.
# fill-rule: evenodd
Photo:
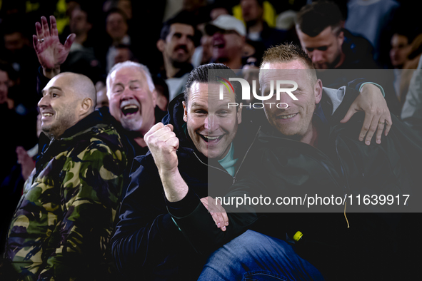
<svg viewBox="0 0 422 281">
<path fill-rule="evenodd" d="M 209 70 L 213 70 L 213 75 L 208 75 Z M 228 78 L 237 78 L 238 76 L 236 73 L 234 73 L 233 70 L 231 70 L 231 68 L 223 65 L 222 63 L 207 63 L 194 68 L 194 70 L 189 73 L 188 80 L 186 81 L 184 91 L 184 99 L 186 104 L 189 101 L 189 94 L 193 83 L 219 83 L 218 77 L 222 77 L 228 80 Z M 240 83 L 232 83 L 231 85 L 234 89 L 234 98 L 236 103 L 241 103 L 241 94 L 238 94 L 242 92 Z"/>
</svg>

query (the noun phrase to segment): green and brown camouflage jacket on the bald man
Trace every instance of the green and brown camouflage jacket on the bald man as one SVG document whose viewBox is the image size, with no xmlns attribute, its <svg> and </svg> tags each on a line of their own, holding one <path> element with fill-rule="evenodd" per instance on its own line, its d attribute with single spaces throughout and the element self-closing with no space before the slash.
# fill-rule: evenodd
<svg viewBox="0 0 422 281">
<path fill-rule="evenodd" d="M 19 280 L 105 280 L 127 170 L 121 136 L 94 111 L 48 141 L 40 140 L 4 258 Z"/>
</svg>

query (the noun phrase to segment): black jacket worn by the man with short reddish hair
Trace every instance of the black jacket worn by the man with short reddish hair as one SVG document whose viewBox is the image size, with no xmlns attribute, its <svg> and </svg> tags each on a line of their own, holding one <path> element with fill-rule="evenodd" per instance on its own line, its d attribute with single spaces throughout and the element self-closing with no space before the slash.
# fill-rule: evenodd
<svg viewBox="0 0 422 281">
<path fill-rule="evenodd" d="M 296 252 L 315 265 L 328 280 L 348 277 L 362 280 L 363 274 L 367 277 L 365 280 L 373 280 L 391 277 L 393 272 L 399 277 L 403 273 L 400 265 L 413 261 L 407 254 L 412 252 L 415 243 L 406 241 L 403 235 L 411 229 L 418 233 L 410 219 L 414 215 L 376 212 L 420 212 L 422 140 L 392 116 L 393 127 L 387 137 L 381 138 L 380 145 L 374 140 L 369 146 L 358 141 L 363 114 L 356 114 L 346 124 L 338 123 L 358 95 L 351 88 L 348 93 L 328 119 L 320 118 L 331 112 L 329 103 L 321 101 L 314 119 L 320 123 L 325 119 L 326 123 L 320 126 L 325 132 L 318 141 L 318 149 L 283 138 L 271 128 L 263 128 L 257 145 L 259 172 L 232 188 L 244 188 L 248 192 L 256 188 L 272 200 L 276 196 L 304 198 L 306 194 L 318 194 L 343 198 L 347 194 L 348 222 L 343 204 L 330 205 L 331 213 L 315 213 L 326 210 L 307 210 L 306 204 L 300 208 L 276 205 L 271 207 L 278 213 L 270 214 L 269 220 L 276 227 L 266 234 L 281 239 L 286 239 L 287 234 L 291 239 L 296 231 L 301 231 L 302 239 L 294 244 Z M 348 196 L 352 194 L 351 203 Z M 361 205 L 357 203 L 358 194 Z M 411 195 L 408 206 L 403 205 L 403 196 L 401 205 L 397 205 L 397 200 L 392 205 L 363 204 L 363 195 L 403 194 Z M 416 218 L 420 220 L 420 216 Z"/>
</svg>

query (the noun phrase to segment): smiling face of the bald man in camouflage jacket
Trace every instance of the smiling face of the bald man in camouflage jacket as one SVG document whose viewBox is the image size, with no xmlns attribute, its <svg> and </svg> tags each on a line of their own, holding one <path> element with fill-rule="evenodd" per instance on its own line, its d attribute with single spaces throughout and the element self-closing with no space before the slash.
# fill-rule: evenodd
<svg viewBox="0 0 422 281">
<path fill-rule="evenodd" d="M 79 121 L 79 96 L 71 86 L 69 76 L 52 78 L 43 89 L 38 103 L 41 131 L 58 138 Z"/>
</svg>

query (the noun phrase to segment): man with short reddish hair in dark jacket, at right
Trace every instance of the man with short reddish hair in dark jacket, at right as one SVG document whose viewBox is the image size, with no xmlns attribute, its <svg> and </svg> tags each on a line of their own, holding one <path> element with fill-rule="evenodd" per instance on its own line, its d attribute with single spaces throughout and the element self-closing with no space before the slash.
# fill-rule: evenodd
<svg viewBox="0 0 422 281">
<path fill-rule="evenodd" d="M 251 188 L 256 188 L 273 200 L 277 196 L 303 199 L 306 195 L 344 198 L 335 204 L 307 200 L 313 203 L 305 203 L 304 208 L 303 205 L 269 205 L 261 210 L 279 212 L 271 221 L 283 222 L 283 233 L 295 251 L 316 266 L 326 279 L 403 277 L 403 265 L 413 260 L 406 258 L 406 254 L 420 243 L 408 247 L 408 243 L 398 242 L 401 233 L 411 229 L 408 223 L 415 217 L 391 212 L 421 211 L 418 200 L 422 178 L 416 167 L 420 166 L 417 163 L 422 157 L 422 140 L 392 116 L 378 121 L 379 128 L 386 122 L 394 122 L 381 144 L 356 141 L 362 116 L 353 116 L 346 124 L 338 123 L 350 102 L 348 99 L 353 100 L 356 91 L 351 89 L 351 95 L 345 96 L 333 116 L 326 118 L 333 108 L 323 101 L 321 80 L 316 78 L 312 61 L 300 48 L 282 45 L 266 51 L 260 73 L 262 92 L 269 91 L 277 78 L 296 81 L 298 91 L 294 93 L 298 100 L 285 95 L 281 101 L 288 103 L 287 108 L 264 108 L 271 126 L 263 128 L 258 136 L 256 173 L 240 180 L 231 190 L 243 189 L 248 194 Z M 363 203 L 365 196 L 371 200 Z M 382 203 L 382 198 L 387 197 L 394 202 Z M 295 239 L 298 234 L 301 239 Z M 197 235 L 205 233 L 197 232 Z M 229 253 L 221 248 L 212 258 L 224 255 Z M 225 265 L 206 270 L 231 272 Z M 415 271 L 406 270 L 406 273 L 414 277 Z"/>
</svg>

